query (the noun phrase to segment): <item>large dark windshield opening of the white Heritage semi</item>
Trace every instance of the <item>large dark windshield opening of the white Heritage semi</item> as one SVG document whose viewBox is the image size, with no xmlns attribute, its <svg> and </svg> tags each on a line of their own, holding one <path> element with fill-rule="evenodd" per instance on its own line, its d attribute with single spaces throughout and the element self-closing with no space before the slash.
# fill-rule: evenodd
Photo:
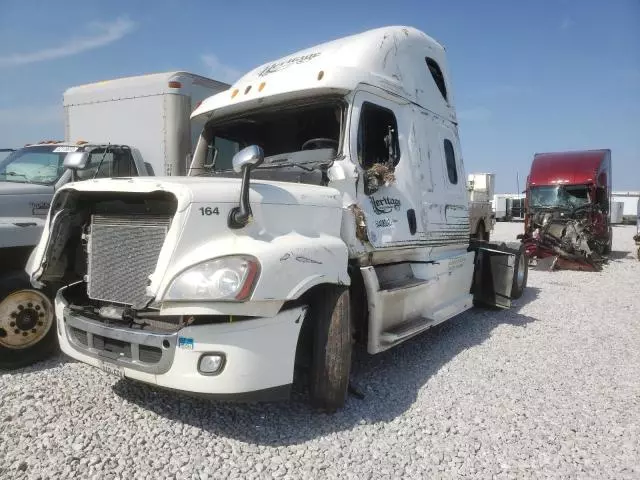
<svg viewBox="0 0 640 480">
<path fill-rule="evenodd" d="M 213 163 L 213 172 L 232 170 L 233 156 L 249 145 L 264 151 L 259 168 L 328 163 L 339 150 L 343 111 L 342 103 L 325 101 L 272 107 L 222 122 L 214 119 L 205 127 L 210 139 L 206 164 Z"/>
</svg>

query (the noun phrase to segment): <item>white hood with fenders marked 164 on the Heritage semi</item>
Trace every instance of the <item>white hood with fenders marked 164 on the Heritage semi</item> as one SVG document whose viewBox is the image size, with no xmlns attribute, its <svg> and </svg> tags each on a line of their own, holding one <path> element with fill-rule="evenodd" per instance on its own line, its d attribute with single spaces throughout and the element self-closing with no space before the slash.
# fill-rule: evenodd
<svg viewBox="0 0 640 480">
<path fill-rule="evenodd" d="M 155 271 L 149 276 L 148 297 L 163 302 L 164 292 L 180 272 L 211 258 L 237 254 L 248 254 L 258 259 L 261 280 L 252 298 L 261 305 L 278 300 L 280 303 L 272 305 L 275 310 L 267 310 L 274 315 L 282 301 L 297 298 L 314 284 L 349 283 L 346 269 L 348 251 L 340 238 L 342 197 L 337 190 L 300 183 L 252 181 L 252 220 L 244 228 L 231 229 L 227 219 L 239 203 L 240 187 L 240 179 L 214 177 L 137 177 L 67 184 L 58 190 L 56 198 L 61 195 L 67 197 L 67 192 L 73 194 L 68 199 L 75 199 L 58 202 L 54 198 L 53 205 L 60 203 L 60 210 L 57 206 L 51 208 L 44 233 L 27 263 L 26 271 L 34 285 L 47 282 L 54 278 L 55 272 L 63 271 L 59 270 L 62 268 L 59 262 L 43 264 L 45 251 L 50 250 L 50 235 L 56 238 L 52 248 L 61 242 L 66 243 L 64 237 L 71 229 L 65 222 L 75 220 L 66 216 L 65 209 L 75 208 L 75 202 L 84 204 L 83 193 L 87 194 L 86 199 L 99 201 L 100 193 L 112 199 L 113 193 L 117 192 L 143 196 L 166 192 L 176 199 L 175 214 L 157 257 Z M 50 228 L 54 218 L 55 225 Z M 283 280 L 285 277 L 286 281 Z M 167 303 L 162 304 L 163 312 L 172 311 Z M 193 308 L 189 310 L 192 314 L 213 312 L 203 306 Z M 179 310 L 185 311 L 182 307 Z M 230 312 L 228 309 L 216 311 Z"/>
</svg>

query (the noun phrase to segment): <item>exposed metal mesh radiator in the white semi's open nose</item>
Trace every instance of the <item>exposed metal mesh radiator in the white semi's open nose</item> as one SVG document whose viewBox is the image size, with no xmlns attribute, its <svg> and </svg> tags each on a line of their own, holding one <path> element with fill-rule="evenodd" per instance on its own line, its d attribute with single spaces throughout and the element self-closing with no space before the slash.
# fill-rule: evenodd
<svg viewBox="0 0 640 480">
<path fill-rule="evenodd" d="M 168 216 L 92 215 L 89 298 L 125 305 L 142 300 L 170 221 Z"/>
</svg>

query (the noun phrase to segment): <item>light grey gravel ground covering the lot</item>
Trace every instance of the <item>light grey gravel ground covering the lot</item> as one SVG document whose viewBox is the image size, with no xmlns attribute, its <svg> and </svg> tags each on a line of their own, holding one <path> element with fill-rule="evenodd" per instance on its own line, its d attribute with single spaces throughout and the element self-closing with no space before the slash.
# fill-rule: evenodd
<svg viewBox="0 0 640 480">
<path fill-rule="evenodd" d="M 62 356 L 0 375 L 0 478 L 640 478 L 633 232 L 614 229 L 601 273 L 532 270 L 510 311 L 358 354 L 365 398 L 333 416 L 155 391 Z"/>
</svg>

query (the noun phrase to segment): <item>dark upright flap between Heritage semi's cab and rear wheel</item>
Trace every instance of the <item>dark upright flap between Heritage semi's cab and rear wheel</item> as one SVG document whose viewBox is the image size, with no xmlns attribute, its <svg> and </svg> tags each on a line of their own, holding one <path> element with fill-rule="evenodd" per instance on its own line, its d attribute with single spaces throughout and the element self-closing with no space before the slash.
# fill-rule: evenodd
<svg viewBox="0 0 640 480">
<path fill-rule="evenodd" d="M 475 303 L 511 307 L 511 286 L 516 256 L 487 247 L 476 249 L 471 293 Z"/>
</svg>

